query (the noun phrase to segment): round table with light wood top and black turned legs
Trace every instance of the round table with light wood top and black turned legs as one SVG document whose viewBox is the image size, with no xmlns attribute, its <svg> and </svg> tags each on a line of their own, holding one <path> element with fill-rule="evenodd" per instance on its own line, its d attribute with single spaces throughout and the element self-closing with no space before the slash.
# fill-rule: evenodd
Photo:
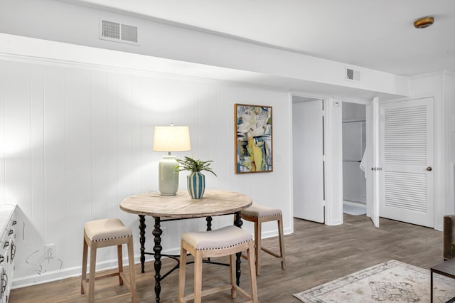
<svg viewBox="0 0 455 303">
<path fill-rule="evenodd" d="M 141 272 L 144 272 L 145 255 L 154 255 L 155 262 L 155 294 L 156 302 L 160 300 L 160 282 L 170 272 L 178 268 L 178 264 L 173 269 L 161 277 L 161 221 L 181 220 L 188 218 L 203 218 L 207 220 L 207 230 L 211 230 L 212 216 L 235 214 L 234 224 L 242 227 L 240 211 L 252 204 L 252 198 L 236 193 L 234 191 L 215 191 L 205 190 L 202 199 L 193 199 L 188 191 L 178 191 L 176 196 L 161 196 L 159 192 L 140 193 L 124 199 L 120 203 L 122 211 L 134 213 L 139 216 L 139 240 L 141 243 Z M 154 230 L 154 252 L 145 251 L 145 216 L 152 216 L 155 220 Z M 237 254 L 237 285 L 240 284 L 240 255 Z M 173 257 L 175 255 L 164 255 Z"/>
</svg>

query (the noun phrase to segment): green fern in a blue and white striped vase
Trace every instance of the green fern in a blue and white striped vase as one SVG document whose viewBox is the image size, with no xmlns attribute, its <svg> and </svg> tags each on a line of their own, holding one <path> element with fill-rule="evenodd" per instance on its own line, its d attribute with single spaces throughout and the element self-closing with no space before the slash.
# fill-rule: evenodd
<svg viewBox="0 0 455 303">
<path fill-rule="evenodd" d="M 186 156 L 185 159 L 176 159 L 178 166 L 175 167 L 175 171 L 189 171 L 190 174 L 186 176 L 188 193 L 193 199 L 200 199 L 204 195 L 205 191 L 205 176 L 201 171 L 210 171 L 210 173 L 215 174 L 215 171 L 210 167 L 212 160 L 201 161 L 195 160 L 189 156 Z"/>
</svg>

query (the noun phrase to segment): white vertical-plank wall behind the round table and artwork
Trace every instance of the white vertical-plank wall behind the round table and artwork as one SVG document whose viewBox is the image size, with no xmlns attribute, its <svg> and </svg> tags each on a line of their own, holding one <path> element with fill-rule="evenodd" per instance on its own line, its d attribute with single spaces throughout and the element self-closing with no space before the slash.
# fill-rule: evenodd
<svg viewBox="0 0 455 303">
<path fill-rule="evenodd" d="M 273 107 L 274 155 L 282 161 L 274 161 L 272 173 L 234 174 L 235 103 Z M 16 287 L 79 274 L 87 220 L 121 218 L 134 230 L 139 255 L 137 216 L 122 212 L 119 202 L 158 188 L 163 153 L 152 151 L 155 125 L 189 125 L 192 150 L 177 156 L 214 160 L 218 178 L 208 175 L 208 188 L 279 206 L 285 232 L 291 232 L 289 106 L 287 92 L 239 83 L 0 60 L 0 203 L 17 203 L 24 222 L 18 227 Z M 181 232 L 202 229 L 204 222 L 164 223 L 164 249 L 175 251 Z M 227 223 L 232 218 L 214 219 L 215 228 Z M 146 225 L 150 235 L 153 220 Z M 249 223 L 244 227 L 253 230 Z M 266 225 L 264 233 L 275 230 Z M 48 262 L 43 247 L 50 243 L 56 256 Z M 151 245 L 149 237 L 148 250 Z M 98 257 L 105 267 L 113 259 L 108 249 Z"/>
</svg>

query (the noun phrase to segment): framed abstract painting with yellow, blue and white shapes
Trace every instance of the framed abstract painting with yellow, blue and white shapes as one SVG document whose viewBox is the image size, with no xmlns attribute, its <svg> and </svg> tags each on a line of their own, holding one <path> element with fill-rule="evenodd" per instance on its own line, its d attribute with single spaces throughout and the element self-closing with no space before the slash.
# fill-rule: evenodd
<svg viewBox="0 0 455 303">
<path fill-rule="evenodd" d="M 235 104 L 235 174 L 273 171 L 272 107 Z"/>
</svg>

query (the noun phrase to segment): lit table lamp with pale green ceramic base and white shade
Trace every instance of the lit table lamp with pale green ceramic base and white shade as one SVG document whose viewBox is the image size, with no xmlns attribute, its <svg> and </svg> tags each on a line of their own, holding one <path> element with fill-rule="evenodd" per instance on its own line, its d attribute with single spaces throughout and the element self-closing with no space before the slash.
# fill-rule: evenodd
<svg viewBox="0 0 455 303">
<path fill-rule="evenodd" d="M 171 151 L 191 150 L 190 129 L 187 126 L 156 126 L 154 134 L 154 151 L 167 151 L 159 161 L 158 184 L 162 196 L 175 196 L 178 191 L 178 165 L 176 156 Z"/>
</svg>

